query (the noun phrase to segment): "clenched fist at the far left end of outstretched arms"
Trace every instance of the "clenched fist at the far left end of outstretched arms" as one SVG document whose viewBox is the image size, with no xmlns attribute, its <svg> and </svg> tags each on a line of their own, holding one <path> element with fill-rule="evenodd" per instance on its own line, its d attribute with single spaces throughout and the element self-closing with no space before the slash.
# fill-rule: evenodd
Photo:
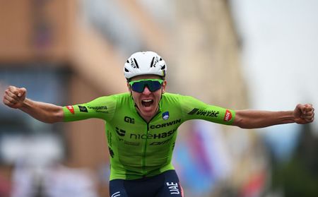
<svg viewBox="0 0 318 197">
<path fill-rule="evenodd" d="M 11 108 L 18 109 L 23 106 L 23 102 L 26 97 L 26 89 L 25 88 L 17 88 L 15 86 L 10 85 L 4 91 L 4 99 L 3 102 L 5 105 Z"/>
</svg>

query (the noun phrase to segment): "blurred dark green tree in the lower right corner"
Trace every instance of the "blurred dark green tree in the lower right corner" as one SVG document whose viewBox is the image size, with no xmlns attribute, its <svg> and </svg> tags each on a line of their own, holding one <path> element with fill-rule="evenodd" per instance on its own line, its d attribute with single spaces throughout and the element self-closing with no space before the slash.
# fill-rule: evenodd
<svg viewBox="0 0 318 197">
<path fill-rule="evenodd" d="M 302 126 L 300 141 L 288 162 L 273 162 L 273 187 L 287 197 L 318 196 L 318 138 L 310 124 Z"/>
</svg>

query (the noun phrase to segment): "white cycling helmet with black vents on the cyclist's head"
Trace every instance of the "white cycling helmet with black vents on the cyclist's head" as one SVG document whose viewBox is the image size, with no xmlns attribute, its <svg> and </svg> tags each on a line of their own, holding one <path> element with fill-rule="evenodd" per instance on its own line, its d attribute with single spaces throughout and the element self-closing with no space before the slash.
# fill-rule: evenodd
<svg viewBox="0 0 318 197">
<path fill-rule="evenodd" d="M 124 75 L 127 80 L 141 75 L 157 75 L 165 78 L 166 71 L 165 61 L 155 52 L 136 52 L 124 65 Z"/>
</svg>

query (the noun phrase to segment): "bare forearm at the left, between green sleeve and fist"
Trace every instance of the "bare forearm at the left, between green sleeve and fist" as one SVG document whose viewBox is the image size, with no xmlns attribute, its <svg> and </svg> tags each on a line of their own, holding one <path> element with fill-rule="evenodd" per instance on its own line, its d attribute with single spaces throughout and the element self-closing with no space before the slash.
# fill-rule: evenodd
<svg viewBox="0 0 318 197">
<path fill-rule="evenodd" d="M 19 109 L 29 114 L 31 117 L 45 123 L 63 121 L 64 115 L 61 106 L 25 99 L 22 107 Z"/>
</svg>

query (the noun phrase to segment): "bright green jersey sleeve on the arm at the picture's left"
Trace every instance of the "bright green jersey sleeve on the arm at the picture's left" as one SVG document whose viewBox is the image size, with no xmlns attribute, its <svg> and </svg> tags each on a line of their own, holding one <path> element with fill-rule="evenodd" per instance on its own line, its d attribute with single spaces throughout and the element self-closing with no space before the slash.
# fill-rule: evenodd
<svg viewBox="0 0 318 197">
<path fill-rule="evenodd" d="M 87 103 L 63 107 L 64 121 L 98 118 L 110 121 L 116 109 L 116 97 L 99 97 Z"/>
</svg>

